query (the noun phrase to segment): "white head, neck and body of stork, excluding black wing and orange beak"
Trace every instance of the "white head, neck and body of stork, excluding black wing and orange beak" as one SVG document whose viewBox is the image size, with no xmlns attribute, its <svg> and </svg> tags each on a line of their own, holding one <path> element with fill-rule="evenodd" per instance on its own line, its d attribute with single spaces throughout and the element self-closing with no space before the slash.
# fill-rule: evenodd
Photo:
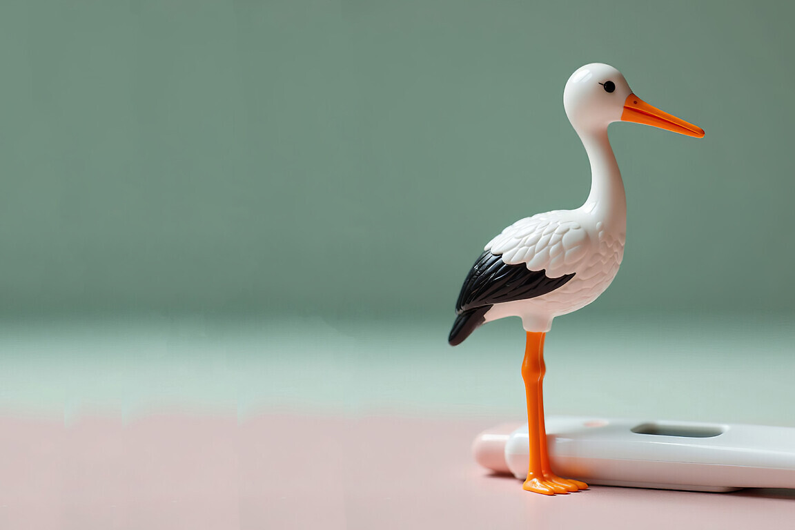
<svg viewBox="0 0 795 530">
<path fill-rule="evenodd" d="M 594 79 L 607 77 L 615 79 L 615 94 L 591 90 L 598 87 Z M 484 315 L 487 322 L 519 316 L 525 331 L 549 331 L 554 317 L 590 304 L 615 278 L 626 240 L 626 195 L 607 125 L 621 119 L 622 106 L 614 103 L 630 93 L 623 75 L 607 64 L 588 64 L 568 79 L 566 114 L 591 162 L 588 199 L 576 210 L 549 211 L 515 222 L 484 250 L 502 255 L 508 265 L 544 270 L 550 278 L 575 276 L 545 295 L 494 304 Z"/>
</svg>

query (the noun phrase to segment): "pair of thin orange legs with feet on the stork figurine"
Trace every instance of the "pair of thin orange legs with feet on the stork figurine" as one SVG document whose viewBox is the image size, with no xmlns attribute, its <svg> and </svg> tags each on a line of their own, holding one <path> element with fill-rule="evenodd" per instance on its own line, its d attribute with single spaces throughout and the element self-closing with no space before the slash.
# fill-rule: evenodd
<svg viewBox="0 0 795 530">
<path fill-rule="evenodd" d="M 529 466 L 524 486 L 527 491 L 554 495 L 586 489 L 584 482 L 560 478 L 549 466 L 546 429 L 544 426 L 543 382 L 545 333 L 527 333 L 525 360 L 522 362 L 522 379 L 527 396 L 527 434 L 529 436 Z"/>
</svg>

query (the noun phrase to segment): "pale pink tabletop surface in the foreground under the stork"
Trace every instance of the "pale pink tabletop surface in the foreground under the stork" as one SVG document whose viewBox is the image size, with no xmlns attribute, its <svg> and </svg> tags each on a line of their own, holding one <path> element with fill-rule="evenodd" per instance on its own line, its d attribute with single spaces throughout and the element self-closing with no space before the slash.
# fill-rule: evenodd
<svg viewBox="0 0 795 530">
<path fill-rule="evenodd" d="M 544 497 L 471 460 L 488 420 L 2 417 L 0 528 L 789 528 L 792 490 Z"/>
</svg>

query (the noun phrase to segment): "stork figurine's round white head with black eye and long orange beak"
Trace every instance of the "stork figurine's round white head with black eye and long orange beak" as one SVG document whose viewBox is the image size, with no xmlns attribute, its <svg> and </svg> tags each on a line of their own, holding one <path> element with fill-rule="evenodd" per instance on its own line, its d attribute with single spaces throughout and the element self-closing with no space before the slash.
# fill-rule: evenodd
<svg viewBox="0 0 795 530">
<path fill-rule="evenodd" d="M 577 68 L 563 92 L 568 121 L 578 132 L 606 130 L 612 122 L 643 123 L 700 138 L 704 130 L 651 106 L 634 95 L 621 72 L 609 64 Z"/>
</svg>

